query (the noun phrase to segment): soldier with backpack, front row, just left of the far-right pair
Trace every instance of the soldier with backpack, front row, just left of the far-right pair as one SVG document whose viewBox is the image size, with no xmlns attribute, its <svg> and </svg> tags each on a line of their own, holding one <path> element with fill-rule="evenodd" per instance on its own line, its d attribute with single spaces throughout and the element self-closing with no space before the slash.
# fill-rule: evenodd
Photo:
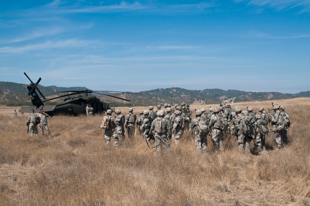
<svg viewBox="0 0 310 206">
<path fill-rule="evenodd" d="M 261 115 L 255 115 L 255 134 L 256 134 L 256 142 L 257 142 L 257 149 L 259 152 L 262 152 L 266 146 L 266 132 L 269 132 L 268 126 L 266 122 L 261 119 Z"/>
</svg>

